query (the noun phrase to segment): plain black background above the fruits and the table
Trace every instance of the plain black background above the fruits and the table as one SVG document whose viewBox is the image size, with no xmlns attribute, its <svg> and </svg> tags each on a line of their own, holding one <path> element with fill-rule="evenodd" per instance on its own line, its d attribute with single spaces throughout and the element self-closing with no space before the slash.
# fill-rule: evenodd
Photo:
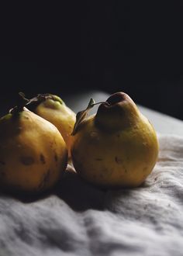
<svg viewBox="0 0 183 256">
<path fill-rule="evenodd" d="M 127 92 L 183 119 L 183 5 L 69 1 L 2 7 L 0 106 L 17 92 Z"/>
</svg>

